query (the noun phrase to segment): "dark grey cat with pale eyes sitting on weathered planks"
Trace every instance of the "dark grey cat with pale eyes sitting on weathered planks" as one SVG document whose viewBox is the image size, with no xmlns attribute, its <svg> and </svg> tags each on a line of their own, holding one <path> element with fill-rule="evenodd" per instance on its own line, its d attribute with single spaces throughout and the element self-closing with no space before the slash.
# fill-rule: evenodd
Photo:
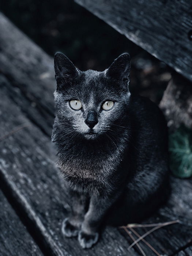
<svg viewBox="0 0 192 256">
<path fill-rule="evenodd" d="M 103 72 L 56 53 L 54 68 L 52 141 L 71 200 L 62 231 L 90 248 L 103 223 L 138 221 L 165 202 L 167 125 L 158 106 L 130 93 L 128 53 Z"/>
</svg>

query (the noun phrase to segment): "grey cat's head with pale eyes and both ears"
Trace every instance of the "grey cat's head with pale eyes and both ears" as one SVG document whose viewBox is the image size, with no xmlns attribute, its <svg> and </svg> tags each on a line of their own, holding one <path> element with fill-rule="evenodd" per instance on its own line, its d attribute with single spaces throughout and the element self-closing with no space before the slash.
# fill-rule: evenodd
<svg viewBox="0 0 192 256">
<path fill-rule="evenodd" d="M 54 58 L 56 116 L 69 136 L 96 139 L 120 127 L 130 97 L 130 56 L 119 56 L 103 72 L 80 71 L 62 53 Z"/>
</svg>

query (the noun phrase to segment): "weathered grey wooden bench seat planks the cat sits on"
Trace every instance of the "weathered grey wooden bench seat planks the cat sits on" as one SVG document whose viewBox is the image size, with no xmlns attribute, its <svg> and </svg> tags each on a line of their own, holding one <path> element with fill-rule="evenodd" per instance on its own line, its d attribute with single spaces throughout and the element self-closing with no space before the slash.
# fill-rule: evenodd
<svg viewBox="0 0 192 256">
<path fill-rule="evenodd" d="M 0 253 L 140 255 L 137 246 L 128 250 L 132 239 L 115 227 L 106 227 L 99 242 L 86 250 L 76 238 L 63 236 L 61 223 L 70 198 L 50 141 L 56 86 L 53 59 L 3 14 L 0 49 Z M 145 239 L 159 254 L 192 255 L 192 180 L 172 177 L 171 184 L 169 202 L 144 223 L 177 219 L 179 223 L 157 229 Z M 135 230 L 140 235 L 146 232 L 143 227 Z M 143 242 L 139 245 L 146 255 L 155 255 Z"/>
</svg>

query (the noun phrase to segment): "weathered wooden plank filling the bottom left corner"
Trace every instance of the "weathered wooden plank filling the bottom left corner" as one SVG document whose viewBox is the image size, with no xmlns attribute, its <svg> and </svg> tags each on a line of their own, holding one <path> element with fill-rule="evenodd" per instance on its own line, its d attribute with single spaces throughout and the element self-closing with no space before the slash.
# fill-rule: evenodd
<svg viewBox="0 0 192 256">
<path fill-rule="evenodd" d="M 0 255 L 43 255 L 0 190 Z"/>
</svg>

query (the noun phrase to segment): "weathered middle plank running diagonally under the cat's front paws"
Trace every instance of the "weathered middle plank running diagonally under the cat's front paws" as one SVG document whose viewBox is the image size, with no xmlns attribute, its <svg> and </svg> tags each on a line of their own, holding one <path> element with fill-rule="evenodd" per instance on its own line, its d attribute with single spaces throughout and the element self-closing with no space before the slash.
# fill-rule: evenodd
<svg viewBox="0 0 192 256">
<path fill-rule="evenodd" d="M 112 227 L 105 230 L 100 242 L 89 251 L 84 251 L 76 238 L 63 236 L 61 223 L 67 216 L 70 198 L 53 162 L 50 138 L 22 114 L 8 97 L 7 87 L 1 84 L 0 94 L 3 98 L 0 102 L 1 182 L 7 184 L 14 200 L 28 216 L 30 225 L 33 223 L 44 248 L 49 248 L 52 255 L 104 256 L 106 252 L 127 255 L 128 241 Z M 23 124 L 29 126 L 18 131 L 16 127 Z M 134 249 L 130 253 L 133 255 Z"/>
</svg>

